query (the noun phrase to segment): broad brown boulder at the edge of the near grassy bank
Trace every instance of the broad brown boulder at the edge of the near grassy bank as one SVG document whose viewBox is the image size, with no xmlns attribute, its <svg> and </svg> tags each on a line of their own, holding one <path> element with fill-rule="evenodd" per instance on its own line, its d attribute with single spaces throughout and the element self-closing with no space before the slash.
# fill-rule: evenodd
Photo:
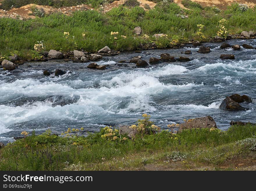
<svg viewBox="0 0 256 191">
<path fill-rule="evenodd" d="M 179 131 L 191 128 L 217 128 L 217 125 L 211 116 L 188 119 L 185 123 L 179 124 Z"/>
</svg>

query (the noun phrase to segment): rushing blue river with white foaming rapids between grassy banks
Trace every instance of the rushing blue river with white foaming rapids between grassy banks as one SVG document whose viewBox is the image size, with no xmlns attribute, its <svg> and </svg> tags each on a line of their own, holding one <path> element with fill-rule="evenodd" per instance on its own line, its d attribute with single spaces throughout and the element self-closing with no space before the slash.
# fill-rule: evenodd
<svg viewBox="0 0 256 191">
<path fill-rule="evenodd" d="M 256 45 L 256 40 L 232 40 L 230 44 Z M 161 128 L 183 119 L 210 115 L 226 130 L 231 120 L 256 122 L 256 102 L 242 103 L 247 111 L 224 111 L 221 101 L 233 93 L 256 97 L 256 50 L 220 50 L 221 43 L 206 43 L 211 52 L 198 48 L 143 50 L 104 57 L 98 64 L 107 70 L 88 69 L 88 63 L 72 61 L 30 62 L 13 71 L 0 70 L 0 141 L 12 142 L 20 132 L 36 134 L 50 128 L 60 134 L 68 127 L 95 132 L 105 125 L 132 124 L 148 113 Z M 184 50 L 193 54 L 182 55 Z M 136 68 L 117 63 L 141 55 L 148 61 L 161 53 L 186 56 L 192 61 L 160 63 Z M 234 54 L 235 60 L 221 60 Z M 67 71 L 60 77 L 43 70 Z"/>
</svg>

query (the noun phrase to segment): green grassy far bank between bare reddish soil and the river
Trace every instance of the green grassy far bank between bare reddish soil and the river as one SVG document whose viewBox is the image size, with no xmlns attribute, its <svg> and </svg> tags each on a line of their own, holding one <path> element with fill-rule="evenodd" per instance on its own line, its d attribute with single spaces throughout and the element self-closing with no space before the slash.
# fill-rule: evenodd
<svg viewBox="0 0 256 191">
<path fill-rule="evenodd" d="M 7 57 L 16 52 L 27 59 L 33 57 L 33 47 L 43 40 L 46 50 L 68 51 L 83 49 L 95 52 L 104 46 L 114 50 L 135 50 L 141 47 L 168 48 L 191 39 L 208 41 L 225 26 L 227 33 L 243 30 L 256 31 L 255 10 L 240 10 L 235 5 L 221 11 L 215 7 L 181 9 L 175 3 L 159 2 L 150 10 L 136 6 L 119 6 L 109 12 L 95 10 L 74 12 L 72 16 L 51 14 L 42 18 L 21 21 L 0 19 L 0 55 Z M 225 19 L 225 20 L 222 20 Z M 224 21 L 220 25 L 219 21 Z M 133 29 L 142 28 L 141 36 L 134 36 Z M 111 31 L 118 34 L 111 35 Z M 70 35 L 64 35 L 69 32 Z M 225 30 L 221 34 L 226 36 Z M 155 39 L 153 34 L 164 33 Z"/>
</svg>

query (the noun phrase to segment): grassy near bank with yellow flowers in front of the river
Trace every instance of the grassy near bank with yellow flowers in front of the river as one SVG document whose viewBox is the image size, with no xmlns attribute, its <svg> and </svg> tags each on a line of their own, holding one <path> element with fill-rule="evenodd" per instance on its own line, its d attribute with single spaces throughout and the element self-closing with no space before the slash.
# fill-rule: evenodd
<svg viewBox="0 0 256 191">
<path fill-rule="evenodd" d="M 256 126 L 175 134 L 174 125 L 160 132 L 150 116 L 143 117 L 131 126 L 138 130 L 131 139 L 108 126 L 87 137 L 81 136 L 83 128 L 59 137 L 50 130 L 31 136 L 24 131 L 24 139 L 0 150 L 0 170 L 236 170 L 239 161 L 256 159 Z M 255 164 L 244 168 L 250 165 Z"/>
</svg>

